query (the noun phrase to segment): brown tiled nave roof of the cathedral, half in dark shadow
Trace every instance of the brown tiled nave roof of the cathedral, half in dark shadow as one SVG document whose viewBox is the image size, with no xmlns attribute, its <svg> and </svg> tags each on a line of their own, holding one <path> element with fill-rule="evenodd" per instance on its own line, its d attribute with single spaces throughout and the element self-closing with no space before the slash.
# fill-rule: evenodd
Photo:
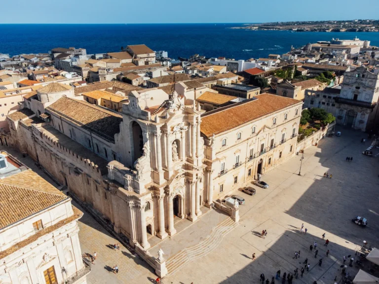
<svg viewBox="0 0 379 284">
<path fill-rule="evenodd" d="M 62 97 L 46 110 L 110 141 L 114 141 L 114 135 L 120 132 L 121 115 L 87 102 Z"/>
</svg>

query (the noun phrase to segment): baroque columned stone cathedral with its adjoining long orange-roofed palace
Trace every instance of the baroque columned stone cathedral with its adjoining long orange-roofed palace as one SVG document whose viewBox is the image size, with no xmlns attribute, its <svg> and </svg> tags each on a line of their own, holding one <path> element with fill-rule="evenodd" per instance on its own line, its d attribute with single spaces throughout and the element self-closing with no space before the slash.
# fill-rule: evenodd
<svg viewBox="0 0 379 284">
<path fill-rule="evenodd" d="M 62 91 L 39 102 L 39 117 L 28 104 L 8 116 L 13 146 L 109 220 L 159 275 L 165 267 L 149 255 L 150 242 L 175 235 L 174 218 L 196 220 L 203 206 L 292 156 L 302 107 L 265 94 L 205 113 L 194 89 L 207 88 L 186 83 L 177 83 L 182 94 L 133 90 L 119 112 Z"/>
</svg>

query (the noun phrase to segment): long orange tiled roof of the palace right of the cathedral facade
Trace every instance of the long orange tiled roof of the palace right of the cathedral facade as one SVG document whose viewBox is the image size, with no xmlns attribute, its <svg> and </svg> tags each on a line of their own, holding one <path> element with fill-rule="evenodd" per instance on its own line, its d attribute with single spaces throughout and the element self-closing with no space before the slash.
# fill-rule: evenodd
<svg viewBox="0 0 379 284">
<path fill-rule="evenodd" d="M 205 113 L 201 117 L 200 130 L 206 137 L 217 135 L 227 130 L 239 127 L 280 109 L 303 102 L 276 95 L 261 94 L 254 100 L 232 105 L 216 112 Z"/>
</svg>

